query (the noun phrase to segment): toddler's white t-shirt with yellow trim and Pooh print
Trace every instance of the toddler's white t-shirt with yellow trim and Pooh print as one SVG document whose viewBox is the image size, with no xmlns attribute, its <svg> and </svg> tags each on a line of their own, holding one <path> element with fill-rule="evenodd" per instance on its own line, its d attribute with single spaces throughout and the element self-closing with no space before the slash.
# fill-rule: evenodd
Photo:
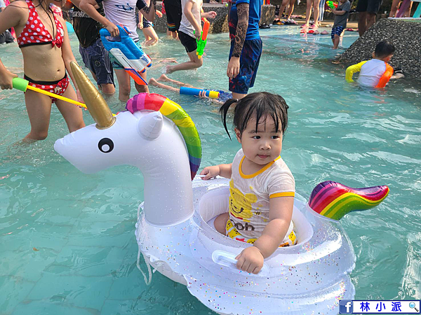
<svg viewBox="0 0 421 315">
<path fill-rule="evenodd" d="M 270 198 L 293 197 L 295 180 L 281 157 L 251 175 L 241 171 L 243 160 L 243 149 L 240 149 L 232 161 L 229 220 L 244 237 L 260 237 L 269 223 Z M 288 231 L 293 230 L 292 225 L 291 221 Z"/>
</svg>

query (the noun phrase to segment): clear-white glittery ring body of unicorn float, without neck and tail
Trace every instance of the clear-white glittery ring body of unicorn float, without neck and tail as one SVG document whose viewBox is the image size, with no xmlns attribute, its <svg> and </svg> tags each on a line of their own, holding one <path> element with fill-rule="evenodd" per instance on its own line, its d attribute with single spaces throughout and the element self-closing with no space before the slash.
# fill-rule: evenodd
<svg viewBox="0 0 421 315">
<path fill-rule="evenodd" d="M 354 297 L 348 275 L 354 250 L 338 221 L 316 214 L 297 197 L 298 244 L 265 259 L 265 273 L 248 274 L 213 260 L 215 251 L 235 257 L 250 246 L 220 235 L 210 220 L 228 209 L 228 183 L 194 179 L 194 214 L 178 225 L 151 225 L 142 212 L 135 235 L 145 259 L 219 314 L 338 314 L 339 300 Z"/>
</svg>

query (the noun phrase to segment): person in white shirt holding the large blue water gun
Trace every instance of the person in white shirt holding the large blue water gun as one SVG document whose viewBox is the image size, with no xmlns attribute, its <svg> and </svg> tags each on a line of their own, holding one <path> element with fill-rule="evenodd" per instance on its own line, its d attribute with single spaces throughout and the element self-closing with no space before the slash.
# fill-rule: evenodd
<svg viewBox="0 0 421 315">
<path fill-rule="evenodd" d="M 104 7 L 105 17 L 95 9 L 95 6 L 98 3 L 102 3 L 102 6 Z M 135 8 L 138 8 L 147 20 L 154 22 L 155 5 L 156 0 L 150 0 L 149 6 L 145 0 L 81 0 L 79 8 L 86 12 L 91 18 L 104 25 L 112 37 L 119 36 L 119 28 L 116 27 L 116 25 L 126 27 L 128 29 L 128 35 L 133 39 L 136 45 L 139 45 L 140 47 Z M 122 102 L 126 102 L 130 98 L 130 76 L 114 56 L 110 55 L 109 59 L 112 62 L 112 67 L 114 68 L 117 80 L 119 81 L 119 99 Z M 147 82 L 146 73 L 147 71 L 140 75 Z M 135 83 L 135 87 L 138 92 L 149 92 L 147 85 Z"/>
</svg>

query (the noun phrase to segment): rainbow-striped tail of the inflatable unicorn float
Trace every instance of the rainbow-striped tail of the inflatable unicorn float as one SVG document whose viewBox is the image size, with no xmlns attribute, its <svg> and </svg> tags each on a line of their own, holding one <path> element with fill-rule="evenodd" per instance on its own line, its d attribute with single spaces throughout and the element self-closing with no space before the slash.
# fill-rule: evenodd
<svg viewBox="0 0 421 315">
<path fill-rule="evenodd" d="M 323 181 L 312 192 L 309 207 L 322 216 L 340 220 L 352 211 L 362 211 L 380 204 L 389 194 L 389 187 L 350 188 L 335 181 Z"/>
</svg>

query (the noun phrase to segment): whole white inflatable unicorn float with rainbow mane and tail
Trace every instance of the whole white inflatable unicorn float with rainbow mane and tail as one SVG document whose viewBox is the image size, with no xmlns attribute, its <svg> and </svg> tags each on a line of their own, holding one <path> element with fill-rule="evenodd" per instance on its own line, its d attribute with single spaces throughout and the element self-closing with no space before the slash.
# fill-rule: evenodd
<svg viewBox="0 0 421 315">
<path fill-rule="evenodd" d="M 59 139 L 55 151 L 87 174 L 123 164 L 140 169 L 145 202 L 135 236 L 148 268 L 184 284 L 218 314 L 338 314 L 339 300 L 354 297 L 356 258 L 339 219 L 380 204 L 387 186 L 327 181 L 309 202 L 296 197 L 298 244 L 277 249 L 258 274 L 241 272 L 234 258 L 251 245 L 213 227 L 227 212 L 229 181 L 196 176 L 201 143 L 187 113 L 159 94 L 138 94 L 113 116 L 79 66 L 72 71 L 96 125 Z"/>
</svg>

